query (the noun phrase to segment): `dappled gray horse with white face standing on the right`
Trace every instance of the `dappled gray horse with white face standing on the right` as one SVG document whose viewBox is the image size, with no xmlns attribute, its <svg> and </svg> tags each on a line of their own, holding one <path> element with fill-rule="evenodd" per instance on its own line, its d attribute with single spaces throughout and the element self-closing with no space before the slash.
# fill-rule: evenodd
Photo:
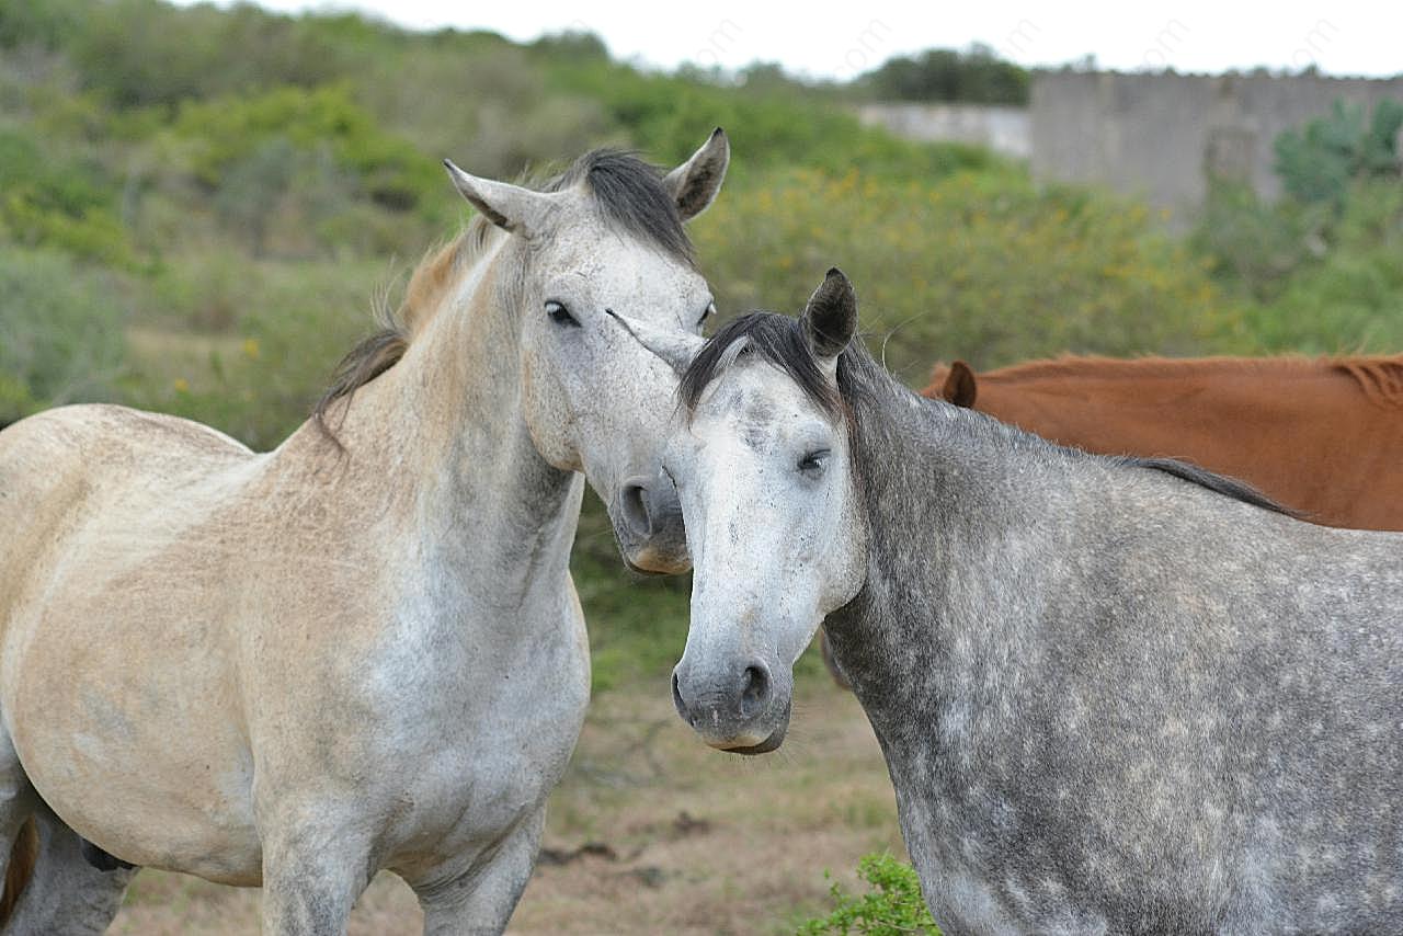
<svg viewBox="0 0 1403 936">
<path fill-rule="evenodd" d="M 784 737 L 821 622 L 951 933 L 1403 929 L 1403 536 L 918 397 L 801 320 L 694 340 L 664 457 L 694 566 L 673 686 Z"/>
</svg>

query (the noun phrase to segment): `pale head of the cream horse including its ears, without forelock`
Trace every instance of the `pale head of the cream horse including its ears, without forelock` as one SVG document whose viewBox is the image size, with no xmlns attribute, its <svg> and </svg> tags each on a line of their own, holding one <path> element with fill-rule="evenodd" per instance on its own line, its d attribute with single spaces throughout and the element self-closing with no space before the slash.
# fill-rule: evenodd
<svg viewBox="0 0 1403 936">
<path fill-rule="evenodd" d="M 666 175 L 664 188 L 683 220 L 716 196 L 728 157 L 718 131 Z M 696 338 L 713 312 L 710 288 L 683 257 L 612 227 L 584 185 L 540 194 L 463 174 L 455 182 L 490 218 L 525 234 L 518 354 L 536 449 L 558 469 L 585 473 L 630 567 L 686 571 L 676 490 L 658 472 L 678 375 L 633 341 L 615 314 Z"/>
</svg>

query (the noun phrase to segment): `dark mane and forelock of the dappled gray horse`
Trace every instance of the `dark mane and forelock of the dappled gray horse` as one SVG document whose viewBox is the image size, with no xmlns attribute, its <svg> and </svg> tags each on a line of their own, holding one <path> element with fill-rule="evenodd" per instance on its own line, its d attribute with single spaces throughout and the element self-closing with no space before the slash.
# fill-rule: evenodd
<svg viewBox="0 0 1403 936">
<path fill-rule="evenodd" d="M 804 323 L 800 319 L 772 312 L 751 312 L 731 320 L 711 335 L 696 358 L 692 359 L 692 365 L 686 373 L 682 375 L 682 385 L 678 387 L 678 394 L 687 413 L 696 410 L 702 393 L 707 386 L 738 356 L 745 354 L 756 354 L 763 361 L 787 373 L 804 392 L 804 396 L 829 415 L 846 415 L 849 431 L 854 428 L 853 413 L 859 401 L 874 397 L 877 386 L 882 383 L 897 385 L 897 380 L 885 373 L 873 356 L 867 354 L 867 348 L 861 340 L 854 340 L 838 356 L 838 387 L 835 390 L 824 377 L 818 362 L 814 359 L 814 351 L 804 331 Z M 906 394 L 919 400 L 920 406 L 950 406 L 943 400 L 916 397 L 909 390 Z M 992 417 L 985 418 L 992 420 Z M 1047 445 L 1052 443 L 1047 442 Z M 854 455 L 860 453 L 854 449 Z M 1235 501 L 1285 514 L 1287 516 L 1302 518 L 1302 514 L 1298 511 L 1273 501 L 1244 481 L 1215 474 L 1188 462 L 1164 457 L 1118 457 L 1113 460 L 1127 467 L 1163 472 L 1190 484 L 1197 484 L 1223 497 L 1230 497 Z"/>
</svg>

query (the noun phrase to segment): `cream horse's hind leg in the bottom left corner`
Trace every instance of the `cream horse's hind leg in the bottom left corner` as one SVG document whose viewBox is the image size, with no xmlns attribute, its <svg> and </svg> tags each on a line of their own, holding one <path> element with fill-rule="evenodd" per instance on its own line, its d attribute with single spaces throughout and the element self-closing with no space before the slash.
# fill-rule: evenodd
<svg viewBox="0 0 1403 936">
<path fill-rule="evenodd" d="M 83 839 L 41 805 L 34 813 L 39 849 L 6 933 L 105 933 L 136 869 L 100 871 L 83 857 Z"/>
</svg>

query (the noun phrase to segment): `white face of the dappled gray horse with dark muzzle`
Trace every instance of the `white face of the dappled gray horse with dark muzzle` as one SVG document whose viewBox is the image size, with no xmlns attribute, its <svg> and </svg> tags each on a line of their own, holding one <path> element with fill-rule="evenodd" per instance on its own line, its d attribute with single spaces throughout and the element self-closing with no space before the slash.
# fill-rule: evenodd
<svg viewBox="0 0 1403 936">
<path fill-rule="evenodd" d="M 847 281 L 840 285 L 850 299 Z M 838 285 L 825 282 L 807 317 L 824 289 Z M 852 326 L 843 334 L 826 347 L 831 355 L 818 355 L 825 380 L 833 380 Z M 780 745 L 794 661 L 824 617 L 861 588 L 866 535 L 850 462 L 843 417 L 745 351 L 703 390 L 664 455 L 694 567 L 673 703 L 714 748 L 763 754 Z"/>
</svg>

